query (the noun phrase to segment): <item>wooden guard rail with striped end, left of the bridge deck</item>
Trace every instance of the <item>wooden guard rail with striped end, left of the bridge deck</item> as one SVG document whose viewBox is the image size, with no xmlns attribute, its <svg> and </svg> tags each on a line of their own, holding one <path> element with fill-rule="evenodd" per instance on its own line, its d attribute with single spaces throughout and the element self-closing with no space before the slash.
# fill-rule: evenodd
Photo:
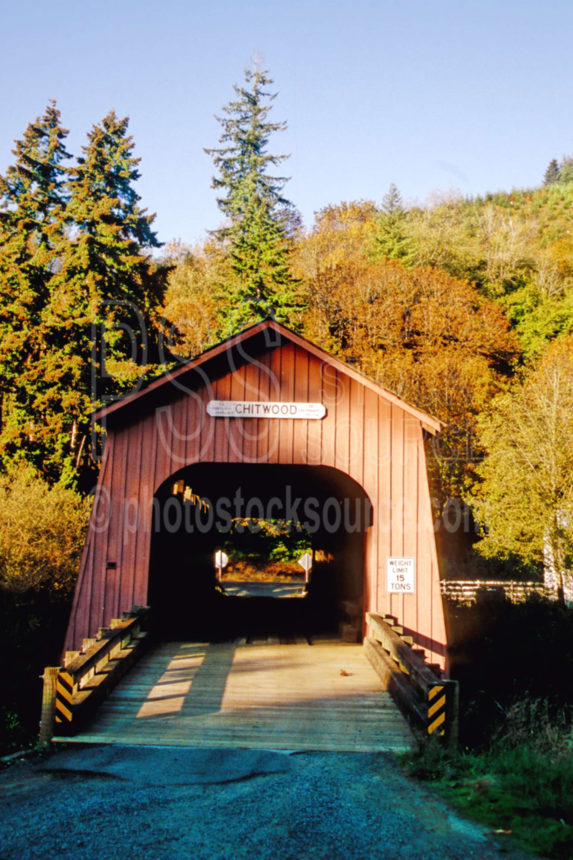
<svg viewBox="0 0 573 860">
<path fill-rule="evenodd" d="M 40 743 L 82 728 L 143 653 L 147 632 L 142 628 L 148 619 L 149 606 L 133 606 L 101 627 L 94 639 L 84 639 L 82 651 L 67 651 L 64 667 L 46 667 Z"/>
</svg>

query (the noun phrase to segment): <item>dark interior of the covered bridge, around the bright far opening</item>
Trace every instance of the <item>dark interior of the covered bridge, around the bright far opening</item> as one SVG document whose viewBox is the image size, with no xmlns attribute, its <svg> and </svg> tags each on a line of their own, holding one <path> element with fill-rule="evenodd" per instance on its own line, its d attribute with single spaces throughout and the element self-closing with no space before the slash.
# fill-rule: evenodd
<svg viewBox="0 0 573 860">
<path fill-rule="evenodd" d="M 174 494 L 189 487 L 191 498 Z M 182 482 L 182 483 L 181 483 Z M 216 581 L 215 552 L 231 518 L 293 519 L 311 534 L 313 569 L 305 599 L 239 598 Z M 195 464 L 155 494 L 149 596 L 164 639 L 289 641 L 335 632 L 342 601 L 362 604 L 364 533 L 372 507 L 363 488 L 326 466 Z"/>
</svg>

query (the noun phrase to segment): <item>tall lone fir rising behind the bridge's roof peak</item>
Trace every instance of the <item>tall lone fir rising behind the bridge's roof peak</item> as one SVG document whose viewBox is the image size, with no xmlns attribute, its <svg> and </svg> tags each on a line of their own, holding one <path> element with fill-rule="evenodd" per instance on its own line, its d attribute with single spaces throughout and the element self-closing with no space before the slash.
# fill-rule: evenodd
<svg viewBox="0 0 573 860">
<path fill-rule="evenodd" d="M 287 178 L 269 175 L 288 156 L 267 151 L 273 132 L 286 128 L 285 122 L 267 119 L 272 95 L 265 88 L 272 80 L 266 71 L 245 71 L 245 86 L 235 85 L 236 101 L 223 107 L 219 149 L 205 149 L 213 157 L 218 175 L 213 185 L 222 192 L 217 204 L 228 223 L 213 233 L 226 248 L 229 279 L 223 286 L 222 334 L 229 335 L 247 323 L 265 316 L 293 322 L 293 310 L 300 307 L 297 282 L 290 274 L 290 241 L 283 211 Z"/>
</svg>

